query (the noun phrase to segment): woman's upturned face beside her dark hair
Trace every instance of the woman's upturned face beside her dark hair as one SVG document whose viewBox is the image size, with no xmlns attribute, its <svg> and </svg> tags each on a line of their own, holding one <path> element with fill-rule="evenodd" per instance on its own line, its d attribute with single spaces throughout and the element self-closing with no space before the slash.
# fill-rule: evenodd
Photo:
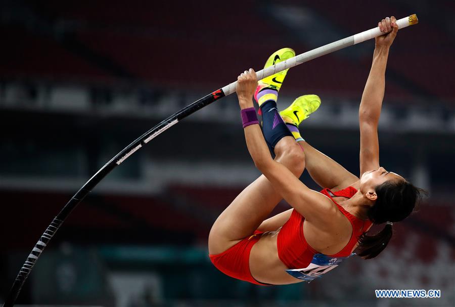
<svg viewBox="0 0 455 307">
<path fill-rule="evenodd" d="M 360 192 L 374 201 L 377 198 L 375 188 L 386 181 L 399 182 L 404 181 L 404 178 L 397 173 L 387 171 L 384 167 L 379 167 L 376 170 L 369 170 L 364 172 L 360 177 Z"/>
</svg>

